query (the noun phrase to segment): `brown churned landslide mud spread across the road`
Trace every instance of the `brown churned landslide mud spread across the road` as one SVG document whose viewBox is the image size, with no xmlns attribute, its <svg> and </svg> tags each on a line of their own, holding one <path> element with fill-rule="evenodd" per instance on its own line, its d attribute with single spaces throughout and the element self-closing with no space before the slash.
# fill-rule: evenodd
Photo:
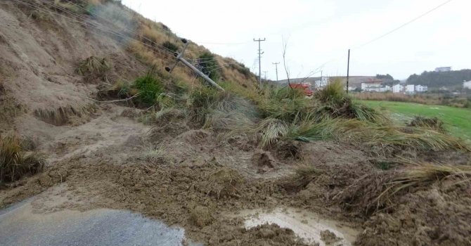
<svg viewBox="0 0 471 246">
<path fill-rule="evenodd" d="M 65 201 L 44 206 L 43 212 L 126 209 L 181 226 L 186 238 L 208 245 L 308 244 L 290 229 L 245 228 L 243 216 L 228 216 L 278 207 L 362 228 L 355 245 L 470 242 L 468 183 L 434 183 L 391 198 L 392 207 L 370 210 L 365 194 L 378 193 L 373 188 L 381 187 L 382 177 L 391 171 L 378 169 L 373 157 L 355 146 L 287 142 L 259 150 L 250 136 L 221 141 L 214 131 L 181 127 L 185 122 L 161 126 L 170 128 L 172 136 L 159 137 L 159 129 L 121 116 L 121 107 L 102 110 L 96 119 L 65 129 L 43 146 L 50 153 L 50 167 L 1 190 L 2 206 L 62 184 Z M 307 164 L 316 172 L 294 173 Z M 319 236 L 333 244 L 342 240 L 327 232 Z"/>
</svg>

